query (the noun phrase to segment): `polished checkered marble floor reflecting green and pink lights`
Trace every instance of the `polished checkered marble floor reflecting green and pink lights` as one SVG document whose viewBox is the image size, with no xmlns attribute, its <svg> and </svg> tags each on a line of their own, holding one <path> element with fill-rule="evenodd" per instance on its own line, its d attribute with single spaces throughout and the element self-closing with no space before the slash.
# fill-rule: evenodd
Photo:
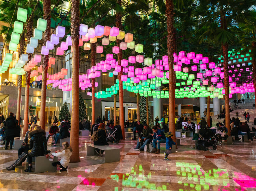
<svg viewBox="0 0 256 191">
<path fill-rule="evenodd" d="M 49 140 L 50 142 L 50 140 Z M 102 163 L 100 156 L 87 157 L 89 137 L 80 137 L 79 163 L 70 163 L 68 172 L 25 173 L 26 162 L 13 171 L 6 166 L 17 151 L 0 147 L 0 190 L 255 190 L 256 140 L 218 146 L 217 150 L 194 150 L 188 143 L 179 146 L 169 160 L 163 154 L 134 151 L 136 141 L 127 139 L 110 145 L 120 148 L 120 161 Z M 165 145 L 161 144 L 164 149 Z M 59 147 L 51 147 L 52 151 Z M 161 151 L 162 152 L 162 151 Z"/>
</svg>

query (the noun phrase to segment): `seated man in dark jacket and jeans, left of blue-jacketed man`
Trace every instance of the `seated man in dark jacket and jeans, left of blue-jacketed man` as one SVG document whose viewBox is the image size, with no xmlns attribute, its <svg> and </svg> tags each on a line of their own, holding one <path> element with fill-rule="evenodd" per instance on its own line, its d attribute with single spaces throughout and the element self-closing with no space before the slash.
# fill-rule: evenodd
<svg viewBox="0 0 256 191">
<path fill-rule="evenodd" d="M 145 145 L 153 139 L 152 128 L 148 127 L 146 123 L 143 125 L 143 127 L 144 128 L 142 129 L 142 132 L 140 133 L 140 137 L 138 138 L 138 141 L 137 141 L 137 146 L 133 150 L 143 151 Z M 141 147 L 139 147 L 140 143 L 143 143 Z"/>
</svg>

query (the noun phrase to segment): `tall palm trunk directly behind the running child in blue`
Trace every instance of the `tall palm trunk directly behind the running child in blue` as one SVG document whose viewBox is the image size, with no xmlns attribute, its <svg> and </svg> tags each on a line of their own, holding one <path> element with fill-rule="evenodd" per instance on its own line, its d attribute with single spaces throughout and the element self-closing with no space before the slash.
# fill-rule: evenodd
<svg viewBox="0 0 256 191">
<path fill-rule="evenodd" d="M 173 52 L 175 48 L 173 36 L 173 23 L 174 23 L 174 5 L 172 0 L 166 0 L 166 15 L 167 15 L 167 51 L 168 51 L 168 64 L 169 64 L 169 129 L 173 132 L 173 141 L 175 137 L 175 122 L 174 122 L 174 89 L 173 89 Z"/>
</svg>

